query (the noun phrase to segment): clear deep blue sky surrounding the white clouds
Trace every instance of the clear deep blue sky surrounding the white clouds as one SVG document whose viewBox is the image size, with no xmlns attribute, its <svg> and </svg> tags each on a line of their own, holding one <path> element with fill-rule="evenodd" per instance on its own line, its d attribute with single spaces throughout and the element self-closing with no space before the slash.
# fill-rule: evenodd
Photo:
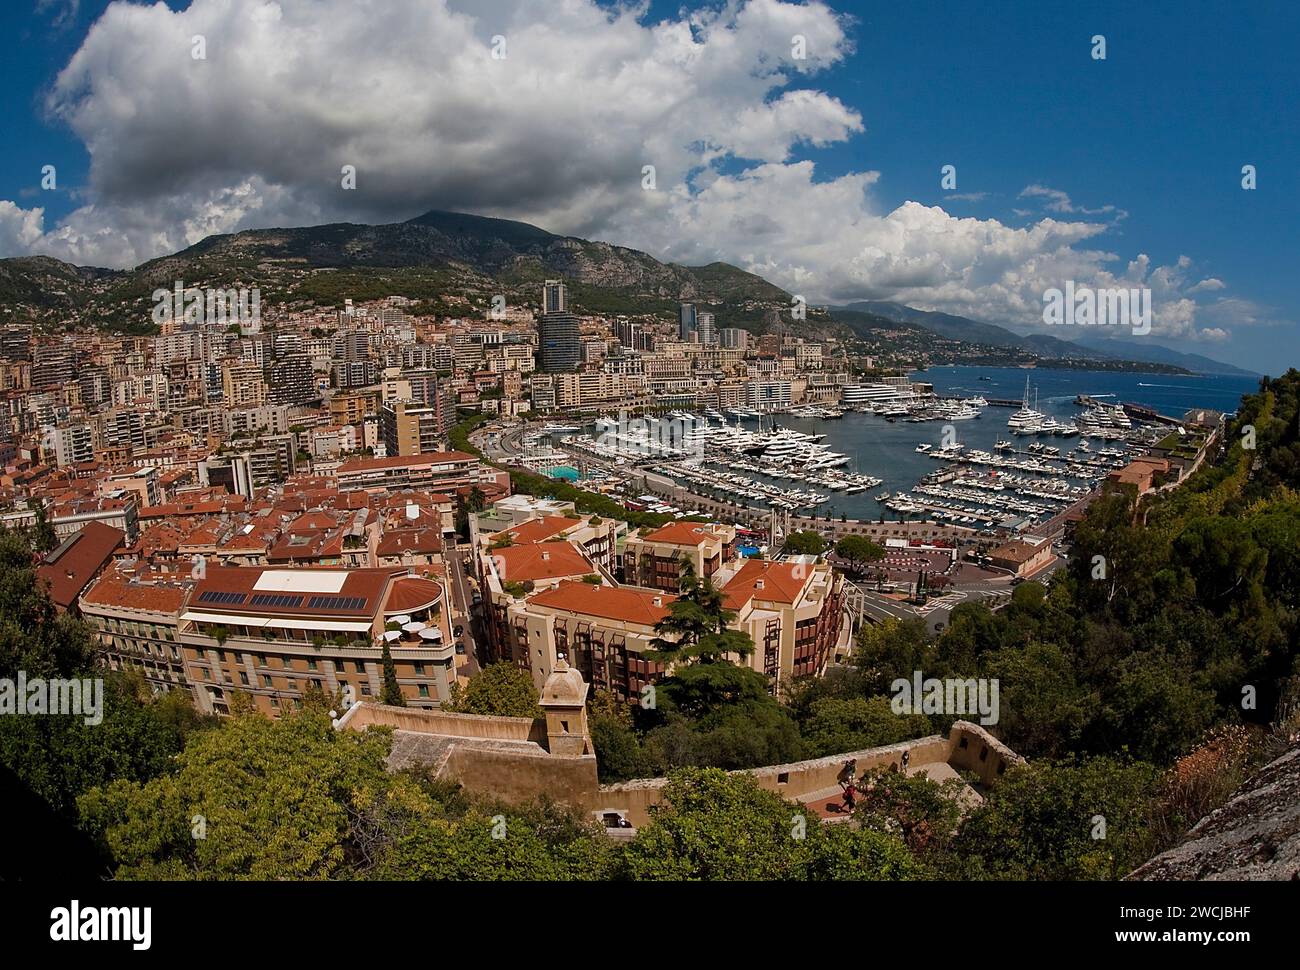
<svg viewBox="0 0 1300 970">
<path fill-rule="evenodd" d="M 73 7 L 75 13 L 69 16 Z M 87 203 L 112 200 L 108 186 L 122 182 L 114 182 L 107 165 L 107 174 L 92 172 L 87 150 L 95 135 L 98 144 L 112 146 L 117 137 L 113 129 L 95 129 L 87 114 L 70 126 L 48 117 L 43 108 L 57 73 L 86 43 L 90 25 L 105 7 L 83 0 L 79 5 L 51 3 L 32 12 L 8 4 L 0 13 L 9 39 L 5 83 L 0 86 L 6 133 L 6 151 L 0 153 L 0 200 L 12 200 L 25 211 L 43 208 L 44 233 Z M 183 10 L 188 4 L 170 7 Z M 511 4 L 503 0 L 467 9 L 473 7 L 506 10 Z M 792 75 L 788 83 L 764 91 L 755 104 L 771 104 L 780 91 L 807 87 L 854 112 L 861 130 L 816 144 L 798 133 L 789 135 L 781 165 L 812 163 L 811 181 L 818 185 L 854 173 L 879 173 L 870 183 L 866 208 L 881 217 L 915 202 L 941 207 L 957 220 L 994 220 L 1011 229 L 1043 218 L 1101 225 L 1104 230 L 1074 246 L 1113 254 L 1117 260 L 1108 265 L 1115 272 L 1139 254 L 1149 256 L 1152 267 L 1174 267 L 1179 257 L 1187 257 L 1187 280 L 1169 294 L 1157 293 L 1157 302 L 1162 296 L 1200 300 L 1196 324 L 1157 334 L 1160 342 L 1273 373 L 1300 364 L 1300 298 L 1291 285 L 1300 255 L 1294 243 L 1300 216 L 1300 4 L 1089 3 L 1087 10 L 1079 10 L 1075 7 L 1082 5 L 1050 1 L 910 0 L 831 7 L 850 18 L 841 23 L 844 51 L 852 47 L 852 53 L 836 56 L 814 74 Z M 680 4 L 654 3 L 640 22 L 650 27 L 676 21 L 681 12 Z M 488 21 L 494 16 L 511 22 L 511 36 L 525 35 L 528 14 L 517 10 L 484 14 L 477 33 L 490 34 L 494 27 Z M 398 35 L 400 29 L 395 25 L 393 30 Z M 1106 38 L 1104 61 L 1089 56 L 1095 34 Z M 121 61 L 133 53 L 130 48 L 114 51 L 110 44 L 110 38 L 103 40 L 109 56 L 95 59 L 87 75 L 100 98 L 105 74 L 125 70 Z M 604 47 L 612 44 L 604 42 Z M 367 51 L 384 55 L 382 47 Z M 697 88 L 696 96 L 722 100 L 742 83 L 737 78 L 725 87 L 707 88 L 715 95 L 701 95 Z M 556 100 L 563 95 L 556 85 Z M 64 91 L 64 104 L 74 98 Z M 192 101 L 187 111 L 194 112 Z M 129 131 L 124 124 L 121 138 Z M 177 138 L 183 140 L 185 131 Z M 751 155 L 724 152 L 707 170 L 716 177 L 745 178 L 755 165 Z M 39 191 L 40 166 L 46 164 L 58 169 L 56 192 Z M 956 194 L 940 187 L 940 168 L 948 164 L 957 168 Z M 1254 191 L 1242 189 L 1244 164 L 1257 166 Z M 255 170 L 240 177 L 248 174 L 274 181 Z M 586 173 L 584 178 L 598 176 Z M 260 181 L 257 185 L 261 187 Z M 1023 195 L 1028 186 L 1041 191 Z M 1048 195 L 1046 190 L 1063 195 Z M 133 191 L 139 195 L 146 187 Z M 530 191 L 542 195 L 552 190 L 538 186 Z M 667 228 L 658 235 L 647 228 L 645 239 L 638 241 L 634 222 L 595 211 L 566 225 L 555 213 L 572 212 L 573 196 L 555 191 L 550 199 L 489 195 L 465 208 L 545 220 L 542 225 L 559 231 L 581 229 L 694 261 L 676 239 L 667 238 Z M 243 215 L 234 228 L 309 224 L 324 221 L 313 218 L 316 213 L 351 212 L 320 199 L 311 204 L 298 196 L 286 199 L 285 192 L 274 194 L 278 208 L 264 205 Z M 441 204 L 447 196 L 439 192 L 428 198 Z M 425 202 L 424 196 L 412 198 L 410 215 L 428 207 Z M 372 212 L 378 213 L 380 203 L 374 205 Z M 387 213 L 394 203 L 384 205 Z M 693 212 L 705 220 L 698 207 Z M 369 217 L 363 212 L 358 218 L 363 216 Z M 373 217 L 380 221 L 378 215 Z M 702 221 L 698 235 L 716 235 L 718 225 Z M 689 221 L 685 228 L 680 221 L 672 226 L 677 235 L 690 235 L 690 230 Z M 176 248 L 185 242 L 174 229 L 159 238 Z M 859 241 L 850 233 L 844 244 L 848 257 Z M 833 260 L 824 252 L 807 256 L 809 265 L 790 268 L 789 260 L 750 251 L 744 241 L 719 238 L 718 247 L 716 255 L 770 273 L 792 290 L 797 285 L 793 280 L 836 276 L 835 267 L 823 265 Z M 699 259 L 712 255 L 699 252 Z M 124 260 L 156 255 L 139 246 L 131 254 Z M 818 259 L 822 264 L 811 265 Z M 1200 280 L 1218 283 L 1213 291 L 1193 290 Z M 822 289 L 828 298 L 848 293 L 841 282 L 827 282 Z M 898 296 L 1023 329 L 1023 320 L 1000 315 L 984 294 L 961 306 L 948 302 L 950 289 L 939 286 L 905 289 Z M 1230 302 L 1221 303 L 1223 299 Z M 976 313 L 975 307 L 987 311 Z"/>
</svg>

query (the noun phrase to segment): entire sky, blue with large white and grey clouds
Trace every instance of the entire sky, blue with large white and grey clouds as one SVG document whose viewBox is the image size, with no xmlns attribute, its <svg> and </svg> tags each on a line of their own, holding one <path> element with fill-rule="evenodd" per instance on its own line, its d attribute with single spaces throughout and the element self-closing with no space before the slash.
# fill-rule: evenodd
<svg viewBox="0 0 1300 970">
<path fill-rule="evenodd" d="M 445 208 L 1300 365 L 1300 4 L 39 0 L 0 29 L 0 256 Z M 1066 282 L 1149 290 L 1150 333 L 1046 325 Z"/>
</svg>

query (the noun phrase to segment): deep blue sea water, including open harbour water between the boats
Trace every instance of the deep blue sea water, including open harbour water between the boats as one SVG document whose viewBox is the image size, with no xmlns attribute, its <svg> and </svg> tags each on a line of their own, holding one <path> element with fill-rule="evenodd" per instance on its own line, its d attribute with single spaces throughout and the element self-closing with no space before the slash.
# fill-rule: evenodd
<svg viewBox="0 0 1300 970">
<path fill-rule="evenodd" d="M 1144 404 L 1161 415 L 1182 417 L 1192 408 L 1206 407 L 1216 411 L 1235 412 L 1243 394 L 1258 390 L 1254 377 L 1235 374 L 1149 374 L 1112 371 L 1058 371 L 1048 368 L 1018 367 L 932 367 L 911 374 L 916 382 L 935 386 L 940 397 L 987 399 L 1002 398 L 1019 400 L 1024 397 L 1024 378 L 1030 378 L 1030 404 L 1053 417 L 1074 419 L 1083 408 L 1074 400 L 1084 394 L 1114 404 Z M 1035 404 L 1036 402 L 1036 404 Z M 1000 438 L 1010 438 L 1006 419 L 1015 408 L 989 406 L 983 415 L 968 421 L 953 421 L 958 441 L 968 449 L 993 450 Z M 734 420 L 734 419 L 733 419 Z M 764 428 L 771 419 L 764 419 Z M 829 514 L 838 519 L 887 519 L 896 518 L 875 495 L 888 490 L 907 492 L 924 475 L 941 467 L 941 462 L 916 451 L 916 446 L 928 442 L 940 446 L 945 421 L 909 423 L 898 417 L 893 423 L 879 415 L 849 412 L 844 417 L 818 420 L 777 415 L 776 424 L 801 432 L 826 434 L 823 443 L 832 451 L 853 458 L 852 471 L 881 478 L 879 488 L 854 495 L 831 494 L 831 501 L 822 506 L 819 515 Z M 757 421 L 745 421 L 755 426 Z M 1027 441 L 1019 438 L 1018 447 Z M 1078 438 L 1043 438 L 1045 443 L 1072 447 Z M 1105 447 L 1093 441 L 1095 447 Z M 1065 450 L 1065 449 L 1062 449 Z"/>
</svg>

